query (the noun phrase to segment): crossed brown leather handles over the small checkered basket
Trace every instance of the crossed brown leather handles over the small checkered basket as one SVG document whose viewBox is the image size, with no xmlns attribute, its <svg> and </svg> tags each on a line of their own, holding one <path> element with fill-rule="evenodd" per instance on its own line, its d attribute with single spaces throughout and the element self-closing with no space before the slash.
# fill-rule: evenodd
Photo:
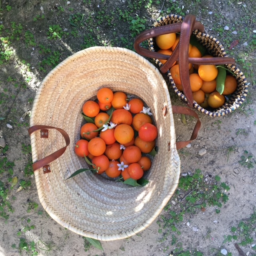
<svg viewBox="0 0 256 256">
<path fill-rule="evenodd" d="M 192 91 L 190 87 L 190 79 L 189 79 L 189 70 L 188 63 L 199 64 L 199 65 L 221 65 L 221 64 L 235 64 L 233 58 L 228 57 L 212 57 L 212 58 L 189 58 L 188 57 L 188 49 L 190 36 L 193 30 L 204 31 L 204 26 L 196 21 L 196 17 L 194 15 L 187 15 L 184 17 L 182 22 L 168 24 L 156 28 L 151 28 L 139 34 L 135 38 L 134 49 L 141 55 L 167 60 L 161 67 L 160 71 L 162 73 L 166 73 L 170 67 L 174 64 L 176 60 L 179 60 L 179 70 L 180 70 L 180 80 L 183 92 L 186 96 L 187 104 L 189 107 L 193 108 L 193 97 Z M 166 54 L 159 54 L 157 52 L 153 52 L 147 49 L 142 48 L 139 44 L 146 39 L 151 37 L 156 37 L 161 34 L 167 33 L 176 33 L 180 32 L 180 40 L 177 46 L 175 47 L 171 56 Z"/>
</svg>

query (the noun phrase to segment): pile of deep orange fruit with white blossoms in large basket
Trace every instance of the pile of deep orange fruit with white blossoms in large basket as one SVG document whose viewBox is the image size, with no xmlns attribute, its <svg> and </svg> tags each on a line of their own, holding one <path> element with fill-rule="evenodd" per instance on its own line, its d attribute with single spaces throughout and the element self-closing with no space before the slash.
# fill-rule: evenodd
<svg viewBox="0 0 256 256">
<path fill-rule="evenodd" d="M 91 122 L 82 125 L 75 153 L 90 159 L 98 174 L 142 178 L 151 167 L 148 153 L 154 150 L 158 135 L 150 108 L 136 96 L 128 100 L 124 92 L 101 88 L 97 100 L 86 101 L 82 112 Z"/>
</svg>

